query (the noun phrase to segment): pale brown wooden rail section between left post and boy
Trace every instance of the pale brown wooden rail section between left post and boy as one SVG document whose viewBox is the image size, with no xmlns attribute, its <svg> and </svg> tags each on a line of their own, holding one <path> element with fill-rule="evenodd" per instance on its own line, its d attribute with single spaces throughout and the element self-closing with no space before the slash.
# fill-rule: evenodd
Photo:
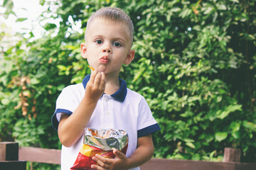
<svg viewBox="0 0 256 170">
<path fill-rule="evenodd" d="M 28 162 L 41 162 L 47 164 L 60 164 L 59 149 L 43 149 L 36 147 L 20 147 L 18 158 Z"/>
</svg>

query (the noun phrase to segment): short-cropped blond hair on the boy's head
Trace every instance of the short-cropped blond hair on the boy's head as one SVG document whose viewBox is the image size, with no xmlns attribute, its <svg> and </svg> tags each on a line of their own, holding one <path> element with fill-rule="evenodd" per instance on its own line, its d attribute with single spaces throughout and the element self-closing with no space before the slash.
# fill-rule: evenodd
<svg viewBox="0 0 256 170">
<path fill-rule="evenodd" d="M 114 8 L 114 7 L 104 7 L 97 10 L 95 13 L 90 16 L 89 20 L 87 21 L 86 28 L 90 25 L 90 23 L 95 18 L 103 18 L 107 19 L 112 22 L 119 22 L 124 23 L 129 28 L 129 36 L 133 42 L 133 32 L 134 32 L 134 26 L 132 23 L 131 18 L 120 8 Z M 86 31 L 85 31 L 86 33 Z"/>
</svg>

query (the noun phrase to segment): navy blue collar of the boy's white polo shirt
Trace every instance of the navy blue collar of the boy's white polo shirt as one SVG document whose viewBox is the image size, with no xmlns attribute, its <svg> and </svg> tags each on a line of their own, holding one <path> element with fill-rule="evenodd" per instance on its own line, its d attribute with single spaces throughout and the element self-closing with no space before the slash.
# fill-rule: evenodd
<svg viewBox="0 0 256 170">
<path fill-rule="evenodd" d="M 90 74 L 88 74 L 83 80 L 82 85 L 86 87 L 87 82 L 90 80 Z M 123 102 L 127 95 L 127 84 L 124 80 L 119 79 L 120 88 L 111 96 L 117 99 L 117 101 Z"/>
</svg>

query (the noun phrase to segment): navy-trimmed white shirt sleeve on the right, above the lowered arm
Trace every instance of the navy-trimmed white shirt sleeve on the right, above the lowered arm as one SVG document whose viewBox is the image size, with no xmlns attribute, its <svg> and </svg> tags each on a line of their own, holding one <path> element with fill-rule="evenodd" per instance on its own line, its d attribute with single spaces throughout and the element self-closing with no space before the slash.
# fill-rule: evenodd
<svg viewBox="0 0 256 170">
<path fill-rule="evenodd" d="M 139 117 L 137 125 L 138 138 L 160 130 L 159 124 L 154 119 L 149 105 L 146 103 L 146 100 L 143 97 L 139 103 Z"/>
</svg>

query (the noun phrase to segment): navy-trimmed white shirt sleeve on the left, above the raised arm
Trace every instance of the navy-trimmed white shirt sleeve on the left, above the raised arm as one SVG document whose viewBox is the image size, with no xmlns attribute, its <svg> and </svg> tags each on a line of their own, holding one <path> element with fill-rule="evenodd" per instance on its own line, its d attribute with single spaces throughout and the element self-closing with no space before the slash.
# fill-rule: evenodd
<svg viewBox="0 0 256 170">
<path fill-rule="evenodd" d="M 53 128 L 55 130 L 58 130 L 60 115 L 62 115 L 63 113 L 71 115 L 74 112 L 75 108 L 76 103 L 73 100 L 72 90 L 69 87 L 65 87 L 57 98 L 55 112 L 53 113 L 53 117 L 51 118 Z"/>
</svg>

